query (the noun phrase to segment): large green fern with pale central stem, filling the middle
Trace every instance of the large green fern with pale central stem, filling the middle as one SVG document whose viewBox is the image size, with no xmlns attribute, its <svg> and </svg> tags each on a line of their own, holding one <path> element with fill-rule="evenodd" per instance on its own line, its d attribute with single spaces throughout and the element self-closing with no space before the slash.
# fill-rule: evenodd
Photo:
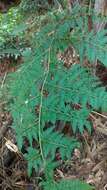
<svg viewBox="0 0 107 190">
<path fill-rule="evenodd" d="M 92 69 L 83 64 L 84 57 L 87 57 L 93 64 L 99 59 L 106 66 L 107 37 L 105 30 L 98 34 L 93 30 L 88 32 L 88 19 L 85 14 L 82 16 L 80 7 L 74 7 L 71 13 L 53 11 L 45 19 L 48 21 L 42 20 L 44 26 L 36 31 L 32 40 L 33 50 L 23 52 L 25 62 L 12 75 L 10 109 L 19 148 L 25 138 L 29 141 L 25 154 L 29 175 L 32 168 L 36 171 L 44 168 L 47 179 L 44 189 L 50 188 L 52 183 L 51 189 L 60 190 L 64 182 L 53 181 L 56 152 L 60 153 L 62 160 L 70 159 L 79 143 L 56 131 L 56 123 L 71 123 L 74 133 L 83 133 L 84 128 L 91 132 L 91 112 L 107 110 L 105 88 L 100 87 Z M 68 69 L 57 55 L 71 44 L 80 55 L 80 63 Z M 75 105 L 80 108 L 75 109 Z M 73 183 L 67 182 L 66 189 L 78 189 Z M 80 189 L 92 188 L 81 185 Z"/>
</svg>

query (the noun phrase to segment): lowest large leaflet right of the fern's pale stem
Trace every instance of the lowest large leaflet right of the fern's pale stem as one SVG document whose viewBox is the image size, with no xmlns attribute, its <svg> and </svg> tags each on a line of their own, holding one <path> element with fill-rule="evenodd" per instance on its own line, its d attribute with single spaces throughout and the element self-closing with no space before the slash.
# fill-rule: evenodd
<svg viewBox="0 0 107 190">
<path fill-rule="evenodd" d="M 50 159 L 55 158 L 56 150 L 59 150 L 62 160 L 70 159 L 74 148 L 79 147 L 79 143 L 75 139 L 65 137 L 64 135 L 54 132 L 53 127 L 43 132 L 41 136 L 43 142 L 44 156 Z"/>
</svg>

